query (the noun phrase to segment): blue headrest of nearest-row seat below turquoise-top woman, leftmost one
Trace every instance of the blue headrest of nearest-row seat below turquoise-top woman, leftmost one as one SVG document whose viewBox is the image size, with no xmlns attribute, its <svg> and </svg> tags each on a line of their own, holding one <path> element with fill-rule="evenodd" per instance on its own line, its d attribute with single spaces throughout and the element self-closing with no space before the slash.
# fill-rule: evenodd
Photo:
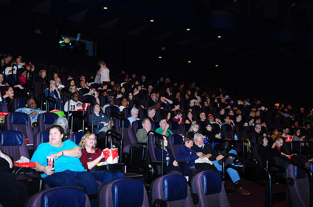
<svg viewBox="0 0 313 207">
<path fill-rule="evenodd" d="M 41 195 L 41 207 L 84 207 L 85 193 L 73 187 L 52 188 Z"/>
</svg>

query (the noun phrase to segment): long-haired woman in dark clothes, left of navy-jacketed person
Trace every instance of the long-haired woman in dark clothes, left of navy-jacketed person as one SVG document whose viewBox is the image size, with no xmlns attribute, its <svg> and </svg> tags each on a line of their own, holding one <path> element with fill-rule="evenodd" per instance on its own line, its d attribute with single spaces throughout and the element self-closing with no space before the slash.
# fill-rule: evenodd
<svg viewBox="0 0 313 207">
<path fill-rule="evenodd" d="M 177 162 L 173 156 L 173 153 L 170 149 L 167 148 L 167 139 L 164 137 L 164 147 L 163 147 L 163 161 L 166 162 L 166 158 L 169 158 L 170 166 L 163 166 L 163 172 L 168 173 L 170 171 L 178 171 L 183 174 L 186 178 L 187 182 L 189 178 L 192 177 L 192 172 L 188 167 L 187 162 Z M 155 140 L 155 157 L 157 161 L 161 161 L 162 159 L 162 138 L 157 137 Z"/>
</svg>

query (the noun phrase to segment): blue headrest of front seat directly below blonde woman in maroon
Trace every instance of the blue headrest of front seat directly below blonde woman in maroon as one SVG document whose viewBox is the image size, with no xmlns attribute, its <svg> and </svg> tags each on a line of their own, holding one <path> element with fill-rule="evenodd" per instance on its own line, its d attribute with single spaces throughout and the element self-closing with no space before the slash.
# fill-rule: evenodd
<svg viewBox="0 0 313 207">
<path fill-rule="evenodd" d="M 134 179 L 117 180 L 112 184 L 114 207 L 141 207 L 144 199 L 143 184 Z"/>
</svg>

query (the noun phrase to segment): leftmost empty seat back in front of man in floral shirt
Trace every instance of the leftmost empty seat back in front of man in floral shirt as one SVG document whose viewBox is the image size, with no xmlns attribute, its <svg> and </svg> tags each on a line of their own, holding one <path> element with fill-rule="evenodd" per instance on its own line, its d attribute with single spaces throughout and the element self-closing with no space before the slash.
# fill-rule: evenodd
<svg viewBox="0 0 313 207">
<path fill-rule="evenodd" d="M 5 117 L 5 130 L 22 132 L 29 144 L 34 144 L 34 131 L 30 117 L 21 112 L 12 112 Z M 33 146 L 29 146 L 33 149 Z"/>
</svg>

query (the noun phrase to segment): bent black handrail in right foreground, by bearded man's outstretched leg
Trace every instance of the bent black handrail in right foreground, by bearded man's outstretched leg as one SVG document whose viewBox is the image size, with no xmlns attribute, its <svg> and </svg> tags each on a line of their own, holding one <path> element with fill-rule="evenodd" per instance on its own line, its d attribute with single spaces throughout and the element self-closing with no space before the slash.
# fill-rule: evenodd
<svg viewBox="0 0 313 207">
<path fill-rule="evenodd" d="M 226 168 L 232 166 L 232 165 L 225 166 L 225 161 L 229 156 L 234 157 L 241 162 L 244 162 L 244 163 L 252 165 L 256 168 L 259 168 L 260 170 L 263 170 L 266 173 L 267 181 L 266 181 L 266 188 L 265 188 L 265 205 L 266 205 L 266 207 L 272 207 L 273 206 L 272 205 L 272 185 L 271 185 L 271 176 L 269 174 L 269 171 L 266 168 L 264 168 L 263 166 L 258 165 L 256 163 L 253 163 L 251 160 L 248 160 L 246 158 L 240 157 L 240 156 L 232 154 L 232 153 L 226 154 L 224 156 L 224 158 L 222 159 L 222 180 L 223 180 L 223 183 L 225 182 L 225 170 L 226 170 Z"/>
</svg>

